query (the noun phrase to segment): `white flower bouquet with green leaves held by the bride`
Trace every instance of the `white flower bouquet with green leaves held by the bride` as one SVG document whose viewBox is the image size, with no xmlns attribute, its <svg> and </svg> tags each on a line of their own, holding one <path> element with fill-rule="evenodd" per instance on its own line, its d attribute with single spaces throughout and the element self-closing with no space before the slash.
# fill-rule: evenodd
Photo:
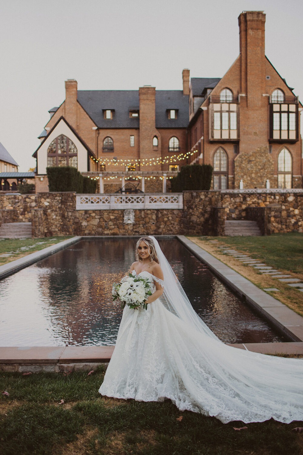
<svg viewBox="0 0 303 455">
<path fill-rule="evenodd" d="M 113 284 L 113 300 L 119 298 L 121 308 L 128 305 L 129 308 L 144 308 L 147 310 L 146 299 L 151 295 L 150 282 L 147 278 L 140 278 L 129 273 L 122 278 L 121 283 Z"/>
</svg>

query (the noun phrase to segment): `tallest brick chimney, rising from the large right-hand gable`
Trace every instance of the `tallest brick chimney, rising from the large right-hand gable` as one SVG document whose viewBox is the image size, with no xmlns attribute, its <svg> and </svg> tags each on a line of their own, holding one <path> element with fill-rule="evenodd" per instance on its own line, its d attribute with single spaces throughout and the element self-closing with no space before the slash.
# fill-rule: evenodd
<svg viewBox="0 0 303 455">
<path fill-rule="evenodd" d="M 241 93 L 247 95 L 247 105 L 257 102 L 265 93 L 265 14 L 263 11 L 243 11 L 238 17 L 241 55 Z"/>
</svg>

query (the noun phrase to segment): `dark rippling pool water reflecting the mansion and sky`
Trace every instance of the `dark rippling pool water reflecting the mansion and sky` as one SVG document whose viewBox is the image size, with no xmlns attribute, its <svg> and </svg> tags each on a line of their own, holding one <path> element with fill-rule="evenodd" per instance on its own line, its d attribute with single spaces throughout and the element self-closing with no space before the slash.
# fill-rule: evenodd
<svg viewBox="0 0 303 455">
<path fill-rule="evenodd" d="M 113 345 L 122 310 L 114 281 L 134 238 L 87 239 L 0 281 L 0 345 Z M 204 322 L 228 343 L 283 341 L 175 239 L 160 246 Z"/>
</svg>

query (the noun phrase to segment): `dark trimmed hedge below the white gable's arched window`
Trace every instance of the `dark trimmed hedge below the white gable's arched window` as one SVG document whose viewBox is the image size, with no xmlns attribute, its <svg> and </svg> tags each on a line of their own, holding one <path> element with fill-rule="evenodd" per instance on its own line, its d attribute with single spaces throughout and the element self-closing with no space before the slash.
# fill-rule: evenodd
<svg viewBox="0 0 303 455">
<path fill-rule="evenodd" d="M 97 182 L 83 177 L 75 167 L 47 167 L 50 192 L 95 193 Z"/>
</svg>

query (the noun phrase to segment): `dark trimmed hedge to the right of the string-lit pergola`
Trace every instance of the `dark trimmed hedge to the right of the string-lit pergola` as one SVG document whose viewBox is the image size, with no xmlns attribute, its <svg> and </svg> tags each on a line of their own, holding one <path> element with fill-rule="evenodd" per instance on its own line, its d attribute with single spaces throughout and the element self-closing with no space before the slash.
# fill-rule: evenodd
<svg viewBox="0 0 303 455">
<path fill-rule="evenodd" d="M 182 166 L 178 175 L 170 180 L 174 193 L 182 191 L 209 191 L 213 175 L 210 164 Z"/>
</svg>

